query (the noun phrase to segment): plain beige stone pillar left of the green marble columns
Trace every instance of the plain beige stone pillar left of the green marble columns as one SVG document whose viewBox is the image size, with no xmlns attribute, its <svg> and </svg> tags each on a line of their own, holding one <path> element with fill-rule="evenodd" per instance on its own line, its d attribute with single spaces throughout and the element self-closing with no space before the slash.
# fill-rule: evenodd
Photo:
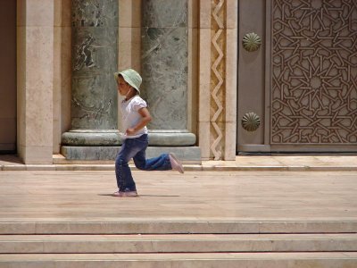
<svg viewBox="0 0 357 268">
<path fill-rule="evenodd" d="M 54 1 L 17 4 L 18 151 L 25 163 L 52 163 Z"/>
</svg>

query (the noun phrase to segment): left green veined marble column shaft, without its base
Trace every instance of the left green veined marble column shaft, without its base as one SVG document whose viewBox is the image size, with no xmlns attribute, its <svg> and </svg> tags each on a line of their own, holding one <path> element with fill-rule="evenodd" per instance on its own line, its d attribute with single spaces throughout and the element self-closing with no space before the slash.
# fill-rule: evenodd
<svg viewBox="0 0 357 268">
<path fill-rule="evenodd" d="M 72 129 L 116 130 L 118 1 L 72 1 Z"/>
</svg>

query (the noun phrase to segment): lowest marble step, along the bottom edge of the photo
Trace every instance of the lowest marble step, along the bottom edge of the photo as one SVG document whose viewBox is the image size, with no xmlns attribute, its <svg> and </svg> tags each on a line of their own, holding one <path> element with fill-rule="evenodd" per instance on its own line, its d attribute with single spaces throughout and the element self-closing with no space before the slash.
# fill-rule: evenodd
<svg viewBox="0 0 357 268">
<path fill-rule="evenodd" d="M 10 254 L 0 255 L 0 267 L 352 268 L 357 267 L 357 253 Z"/>
</svg>

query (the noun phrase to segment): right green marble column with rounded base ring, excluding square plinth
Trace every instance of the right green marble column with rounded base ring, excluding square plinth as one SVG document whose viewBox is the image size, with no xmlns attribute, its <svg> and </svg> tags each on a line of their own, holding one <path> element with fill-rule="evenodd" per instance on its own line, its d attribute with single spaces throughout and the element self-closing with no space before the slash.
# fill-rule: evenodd
<svg viewBox="0 0 357 268">
<path fill-rule="evenodd" d="M 153 121 L 150 146 L 190 147 L 187 130 L 187 0 L 142 1 L 142 96 Z"/>
</svg>

